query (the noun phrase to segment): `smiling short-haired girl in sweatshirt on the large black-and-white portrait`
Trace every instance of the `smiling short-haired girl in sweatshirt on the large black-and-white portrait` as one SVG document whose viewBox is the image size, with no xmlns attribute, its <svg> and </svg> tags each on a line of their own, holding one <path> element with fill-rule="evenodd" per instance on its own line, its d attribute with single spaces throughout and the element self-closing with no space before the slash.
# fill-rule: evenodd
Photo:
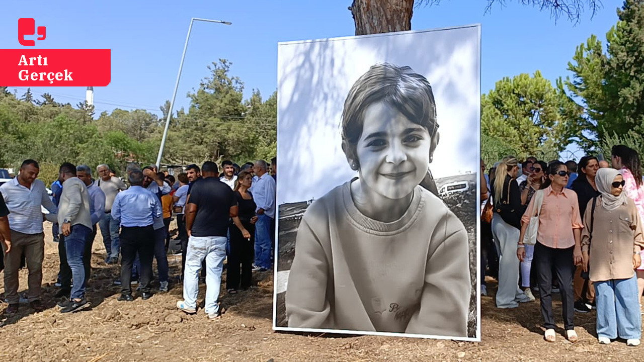
<svg viewBox="0 0 644 362">
<path fill-rule="evenodd" d="M 468 234 L 428 191 L 438 127 L 430 83 L 411 68 L 377 64 L 355 82 L 342 149 L 359 177 L 301 220 L 289 327 L 468 336 Z"/>
</svg>

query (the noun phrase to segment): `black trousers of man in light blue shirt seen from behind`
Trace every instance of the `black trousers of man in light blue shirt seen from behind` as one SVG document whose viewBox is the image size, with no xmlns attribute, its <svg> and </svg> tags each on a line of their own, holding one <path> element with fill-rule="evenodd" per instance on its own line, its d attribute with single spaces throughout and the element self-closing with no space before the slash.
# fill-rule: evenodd
<svg viewBox="0 0 644 362">
<path fill-rule="evenodd" d="M 129 285 L 132 278 L 134 260 L 140 260 L 138 281 L 142 292 L 150 292 L 152 279 L 152 260 L 155 257 L 155 230 L 152 225 L 146 227 L 122 226 L 119 235 L 121 248 L 121 293 L 131 294 Z"/>
</svg>

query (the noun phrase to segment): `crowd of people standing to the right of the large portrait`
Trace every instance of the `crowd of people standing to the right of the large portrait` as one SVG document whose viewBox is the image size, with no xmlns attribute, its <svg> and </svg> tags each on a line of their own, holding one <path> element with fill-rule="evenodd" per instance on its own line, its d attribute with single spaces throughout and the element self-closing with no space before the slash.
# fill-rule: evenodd
<svg viewBox="0 0 644 362">
<path fill-rule="evenodd" d="M 486 274 L 498 280 L 497 308 L 536 300 L 544 339 L 553 342 L 552 295 L 559 293 L 565 338 L 576 342 L 574 313 L 596 310 L 598 342 L 638 346 L 644 291 L 644 179 L 639 155 L 614 146 L 611 164 L 481 161 L 481 294 Z"/>
</svg>

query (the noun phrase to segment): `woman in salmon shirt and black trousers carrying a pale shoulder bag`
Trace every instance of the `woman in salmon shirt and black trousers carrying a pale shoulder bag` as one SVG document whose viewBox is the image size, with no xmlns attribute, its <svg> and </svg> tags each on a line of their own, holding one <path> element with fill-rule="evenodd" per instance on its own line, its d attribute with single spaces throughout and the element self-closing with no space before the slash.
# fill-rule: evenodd
<svg viewBox="0 0 644 362">
<path fill-rule="evenodd" d="M 582 262 L 581 229 L 577 194 L 566 189 L 570 172 L 563 162 L 553 162 L 548 169 L 548 180 L 544 184 L 544 199 L 539 215 L 539 227 L 535 244 L 534 263 L 541 300 L 541 314 L 544 318 L 545 335 L 548 342 L 554 342 L 553 317 L 553 269 L 559 280 L 563 301 L 565 337 L 572 343 L 578 337 L 573 323 L 573 271 L 574 265 Z M 531 200 L 521 219 L 521 233 L 516 254 L 519 260 L 526 258 L 524 235 L 535 213 L 535 200 Z"/>
</svg>

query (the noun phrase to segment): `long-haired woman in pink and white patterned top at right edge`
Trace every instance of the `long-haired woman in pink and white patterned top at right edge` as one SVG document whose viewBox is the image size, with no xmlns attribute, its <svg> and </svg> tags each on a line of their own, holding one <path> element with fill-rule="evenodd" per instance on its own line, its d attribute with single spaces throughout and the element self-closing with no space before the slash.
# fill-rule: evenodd
<svg viewBox="0 0 644 362">
<path fill-rule="evenodd" d="M 642 172 L 639 164 L 639 155 L 637 151 L 624 145 L 616 145 L 611 149 L 612 167 L 620 171 L 624 178 L 623 192 L 635 202 L 638 209 L 639 218 L 644 222 L 644 185 L 642 183 Z M 644 256 L 642 254 L 641 256 Z M 638 267 L 636 274 L 638 276 L 638 301 L 644 292 L 644 267 Z M 641 302 L 639 303 L 641 310 Z M 641 312 L 644 314 L 644 312 Z"/>
</svg>

